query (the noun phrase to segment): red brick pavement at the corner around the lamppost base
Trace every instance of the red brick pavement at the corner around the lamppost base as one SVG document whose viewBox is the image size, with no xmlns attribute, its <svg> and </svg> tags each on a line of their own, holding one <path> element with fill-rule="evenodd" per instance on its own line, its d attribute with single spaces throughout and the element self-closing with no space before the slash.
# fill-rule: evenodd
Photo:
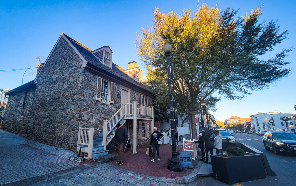
<svg viewBox="0 0 296 186">
<path fill-rule="evenodd" d="M 180 143 L 179 143 L 180 144 Z M 128 150 L 128 151 L 127 151 Z M 137 146 L 137 154 L 132 154 L 130 149 L 127 149 L 124 153 L 123 158 L 123 165 L 118 165 L 116 161 L 114 160 L 111 162 L 108 162 L 108 164 L 120 167 L 123 169 L 127 169 L 129 171 L 134 171 L 136 173 L 145 174 L 149 176 L 157 176 L 157 177 L 181 177 L 186 176 L 190 174 L 193 169 L 183 169 L 182 172 L 174 172 L 168 170 L 168 158 L 172 157 L 172 146 L 169 144 L 167 145 L 160 145 L 159 151 L 160 151 L 160 162 L 155 160 L 155 163 L 153 163 L 152 157 L 150 158 L 149 155 L 146 154 L 147 145 L 145 146 Z M 177 151 L 182 151 L 182 142 L 181 145 L 177 147 Z M 117 151 L 109 151 L 110 154 L 117 155 Z M 157 154 L 155 156 L 157 158 Z M 195 167 L 198 163 L 198 160 L 200 158 L 196 158 L 195 161 L 193 161 L 193 166 Z"/>
</svg>

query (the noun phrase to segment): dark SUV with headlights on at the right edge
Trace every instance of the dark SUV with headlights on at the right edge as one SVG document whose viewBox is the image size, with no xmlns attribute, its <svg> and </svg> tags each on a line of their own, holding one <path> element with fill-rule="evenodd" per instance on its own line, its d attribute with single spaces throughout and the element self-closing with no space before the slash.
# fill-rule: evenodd
<svg viewBox="0 0 296 186">
<path fill-rule="evenodd" d="M 296 134 L 285 131 L 268 131 L 263 136 L 263 144 L 266 150 L 272 149 L 275 154 L 296 153 Z"/>
</svg>

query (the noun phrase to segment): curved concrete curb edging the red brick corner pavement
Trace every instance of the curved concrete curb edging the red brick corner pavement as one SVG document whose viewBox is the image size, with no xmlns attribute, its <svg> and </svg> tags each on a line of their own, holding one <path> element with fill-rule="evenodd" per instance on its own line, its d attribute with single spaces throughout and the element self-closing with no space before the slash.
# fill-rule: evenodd
<svg viewBox="0 0 296 186">
<path fill-rule="evenodd" d="M 105 165 L 112 166 L 113 168 L 116 168 L 116 169 L 123 169 L 123 168 L 119 168 L 119 167 L 116 167 L 116 166 L 113 166 L 113 165 L 109 165 L 107 163 L 105 163 Z M 193 169 L 192 173 L 190 173 L 190 174 L 188 174 L 186 176 L 176 177 L 176 178 L 156 177 L 156 176 L 149 176 L 149 175 L 145 175 L 145 174 L 139 174 L 139 173 L 136 173 L 136 172 L 133 172 L 133 171 L 130 171 L 130 172 L 132 172 L 135 175 L 144 177 L 144 178 L 154 179 L 154 180 L 161 181 L 161 182 L 188 184 L 188 183 L 193 182 L 195 179 L 197 179 L 197 172 L 200 170 L 201 165 L 202 165 L 202 161 L 199 161 L 197 163 L 196 167 Z M 124 169 L 124 170 L 126 170 L 126 169 Z M 129 170 L 126 170 L 126 171 L 129 171 Z"/>
</svg>

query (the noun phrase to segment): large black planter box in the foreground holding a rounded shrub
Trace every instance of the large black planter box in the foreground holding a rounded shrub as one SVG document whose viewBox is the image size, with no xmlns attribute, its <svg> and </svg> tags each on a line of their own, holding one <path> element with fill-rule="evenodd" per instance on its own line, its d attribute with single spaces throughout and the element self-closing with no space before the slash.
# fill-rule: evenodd
<svg viewBox="0 0 296 186">
<path fill-rule="evenodd" d="M 211 155 L 213 177 L 220 182 L 234 184 L 266 178 L 261 155 L 220 157 Z"/>
</svg>

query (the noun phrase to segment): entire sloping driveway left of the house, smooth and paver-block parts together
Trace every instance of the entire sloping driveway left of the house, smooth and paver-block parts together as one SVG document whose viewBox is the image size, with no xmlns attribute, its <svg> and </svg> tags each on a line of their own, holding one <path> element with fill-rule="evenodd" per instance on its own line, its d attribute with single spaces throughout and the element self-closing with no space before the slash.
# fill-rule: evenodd
<svg viewBox="0 0 296 186">
<path fill-rule="evenodd" d="M 0 130 L 0 185 L 81 166 L 75 153 Z M 85 164 L 85 163 L 84 163 Z"/>
</svg>

